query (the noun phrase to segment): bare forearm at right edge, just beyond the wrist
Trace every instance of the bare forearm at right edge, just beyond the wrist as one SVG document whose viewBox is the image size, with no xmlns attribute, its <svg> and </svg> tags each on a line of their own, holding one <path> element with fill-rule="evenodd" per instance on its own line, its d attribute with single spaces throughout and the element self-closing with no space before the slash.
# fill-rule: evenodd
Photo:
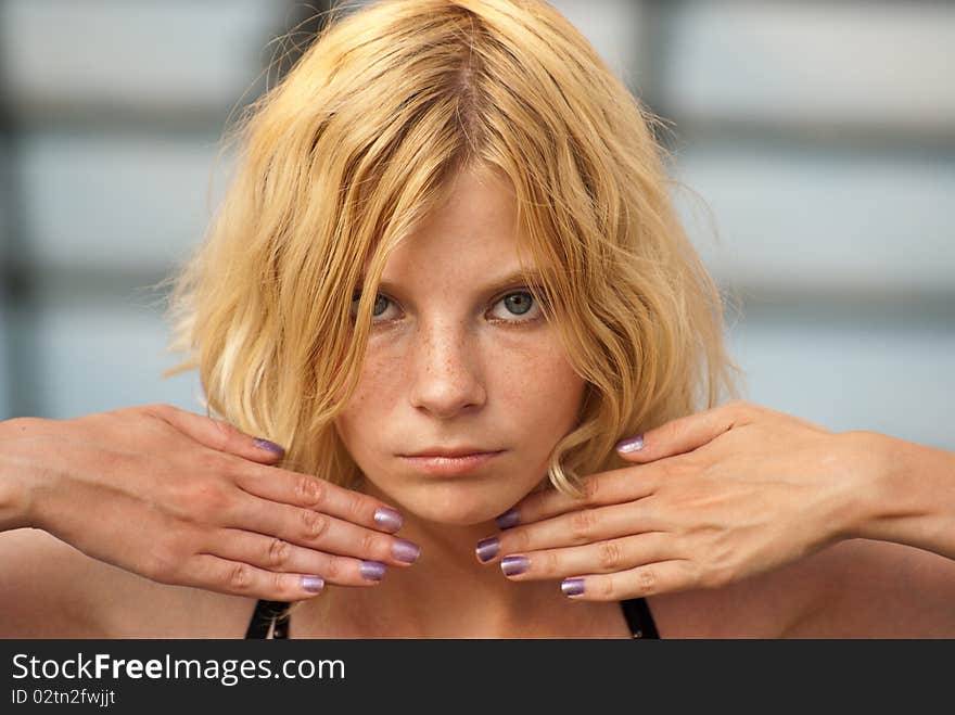
<svg viewBox="0 0 955 715">
<path fill-rule="evenodd" d="M 852 434 L 874 471 L 867 508 L 857 511 L 849 535 L 955 559 L 955 452 L 875 432 Z"/>
</svg>

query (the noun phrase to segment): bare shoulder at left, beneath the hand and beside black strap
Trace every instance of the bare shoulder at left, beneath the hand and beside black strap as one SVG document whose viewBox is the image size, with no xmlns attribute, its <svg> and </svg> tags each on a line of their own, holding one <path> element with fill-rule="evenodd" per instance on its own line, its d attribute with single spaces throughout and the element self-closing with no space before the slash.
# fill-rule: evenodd
<svg viewBox="0 0 955 715">
<path fill-rule="evenodd" d="M 158 584 L 47 532 L 0 533 L 0 637 L 241 638 L 253 599 Z"/>
</svg>

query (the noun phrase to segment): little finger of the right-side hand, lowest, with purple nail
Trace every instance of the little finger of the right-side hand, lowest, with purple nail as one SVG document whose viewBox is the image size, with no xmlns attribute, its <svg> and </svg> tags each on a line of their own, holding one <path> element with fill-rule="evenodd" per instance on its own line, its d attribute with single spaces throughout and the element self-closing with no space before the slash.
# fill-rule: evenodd
<svg viewBox="0 0 955 715">
<path fill-rule="evenodd" d="M 690 561 L 673 559 L 610 574 L 573 576 L 561 582 L 568 598 L 581 601 L 623 601 L 695 588 L 698 578 Z"/>
</svg>

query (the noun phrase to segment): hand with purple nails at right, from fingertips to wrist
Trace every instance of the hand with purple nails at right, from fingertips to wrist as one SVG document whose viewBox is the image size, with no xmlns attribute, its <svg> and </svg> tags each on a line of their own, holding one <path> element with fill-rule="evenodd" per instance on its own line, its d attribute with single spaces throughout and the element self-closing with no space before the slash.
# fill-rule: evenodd
<svg viewBox="0 0 955 715">
<path fill-rule="evenodd" d="M 724 586 L 849 538 L 879 468 L 873 436 L 728 403 L 619 449 L 634 464 L 586 477 L 581 499 L 525 497 L 478 558 L 585 600 Z"/>
</svg>

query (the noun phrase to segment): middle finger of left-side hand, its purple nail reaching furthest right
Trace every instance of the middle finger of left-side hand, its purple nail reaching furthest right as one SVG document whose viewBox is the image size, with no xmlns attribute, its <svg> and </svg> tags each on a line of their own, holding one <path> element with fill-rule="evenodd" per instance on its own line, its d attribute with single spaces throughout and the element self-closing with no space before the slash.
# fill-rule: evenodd
<svg viewBox="0 0 955 715">
<path fill-rule="evenodd" d="M 408 566 L 420 549 L 407 539 L 382 534 L 311 509 L 300 509 L 256 497 L 224 514 L 222 526 L 278 537 L 308 549 Z"/>
</svg>

